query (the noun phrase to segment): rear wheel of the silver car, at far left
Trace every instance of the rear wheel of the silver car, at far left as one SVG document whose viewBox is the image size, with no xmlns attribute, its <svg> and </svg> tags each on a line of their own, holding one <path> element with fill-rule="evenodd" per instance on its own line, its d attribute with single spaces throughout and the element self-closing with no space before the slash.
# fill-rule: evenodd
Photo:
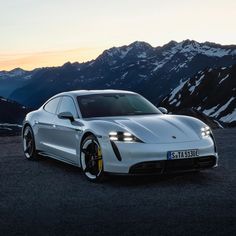
<svg viewBox="0 0 236 236">
<path fill-rule="evenodd" d="M 26 126 L 23 132 L 23 151 L 27 160 L 35 160 L 38 157 L 35 149 L 34 133 L 30 126 Z"/>
</svg>

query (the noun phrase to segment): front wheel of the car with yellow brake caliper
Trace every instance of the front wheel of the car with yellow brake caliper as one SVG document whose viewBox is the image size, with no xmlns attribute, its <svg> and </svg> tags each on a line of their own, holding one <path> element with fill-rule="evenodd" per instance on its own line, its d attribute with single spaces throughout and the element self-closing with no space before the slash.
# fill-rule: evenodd
<svg viewBox="0 0 236 236">
<path fill-rule="evenodd" d="M 82 142 L 80 166 L 84 176 L 91 182 L 101 182 L 105 174 L 100 144 L 94 135 L 89 135 Z"/>
</svg>

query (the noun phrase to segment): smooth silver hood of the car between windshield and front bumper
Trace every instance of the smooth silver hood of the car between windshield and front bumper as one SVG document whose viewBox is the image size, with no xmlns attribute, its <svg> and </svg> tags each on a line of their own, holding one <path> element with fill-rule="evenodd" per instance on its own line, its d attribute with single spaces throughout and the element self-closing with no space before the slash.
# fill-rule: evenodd
<svg viewBox="0 0 236 236">
<path fill-rule="evenodd" d="M 103 118 L 122 130 L 129 131 L 143 142 L 174 143 L 199 140 L 201 121 L 178 115 L 148 115 Z M 122 131 L 121 130 L 121 131 Z M 113 130 L 119 131 L 119 130 Z"/>
</svg>

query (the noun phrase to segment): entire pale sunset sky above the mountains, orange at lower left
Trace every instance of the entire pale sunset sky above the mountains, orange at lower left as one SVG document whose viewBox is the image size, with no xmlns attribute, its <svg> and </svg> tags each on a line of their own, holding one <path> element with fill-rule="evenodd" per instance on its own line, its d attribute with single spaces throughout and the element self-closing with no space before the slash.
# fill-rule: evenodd
<svg viewBox="0 0 236 236">
<path fill-rule="evenodd" d="M 133 41 L 236 44 L 235 0 L 0 0 L 0 70 L 87 61 Z"/>
</svg>

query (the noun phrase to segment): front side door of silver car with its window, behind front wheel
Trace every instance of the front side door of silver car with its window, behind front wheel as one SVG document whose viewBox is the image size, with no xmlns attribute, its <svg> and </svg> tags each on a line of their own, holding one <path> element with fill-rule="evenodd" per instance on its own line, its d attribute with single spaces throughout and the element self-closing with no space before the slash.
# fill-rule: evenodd
<svg viewBox="0 0 236 236">
<path fill-rule="evenodd" d="M 57 114 L 70 112 L 74 118 L 78 118 L 73 98 L 63 96 Z M 56 155 L 69 162 L 78 163 L 77 145 L 79 145 L 79 127 L 75 126 L 69 119 L 61 119 L 55 116 L 54 120 L 54 142 Z"/>
</svg>

